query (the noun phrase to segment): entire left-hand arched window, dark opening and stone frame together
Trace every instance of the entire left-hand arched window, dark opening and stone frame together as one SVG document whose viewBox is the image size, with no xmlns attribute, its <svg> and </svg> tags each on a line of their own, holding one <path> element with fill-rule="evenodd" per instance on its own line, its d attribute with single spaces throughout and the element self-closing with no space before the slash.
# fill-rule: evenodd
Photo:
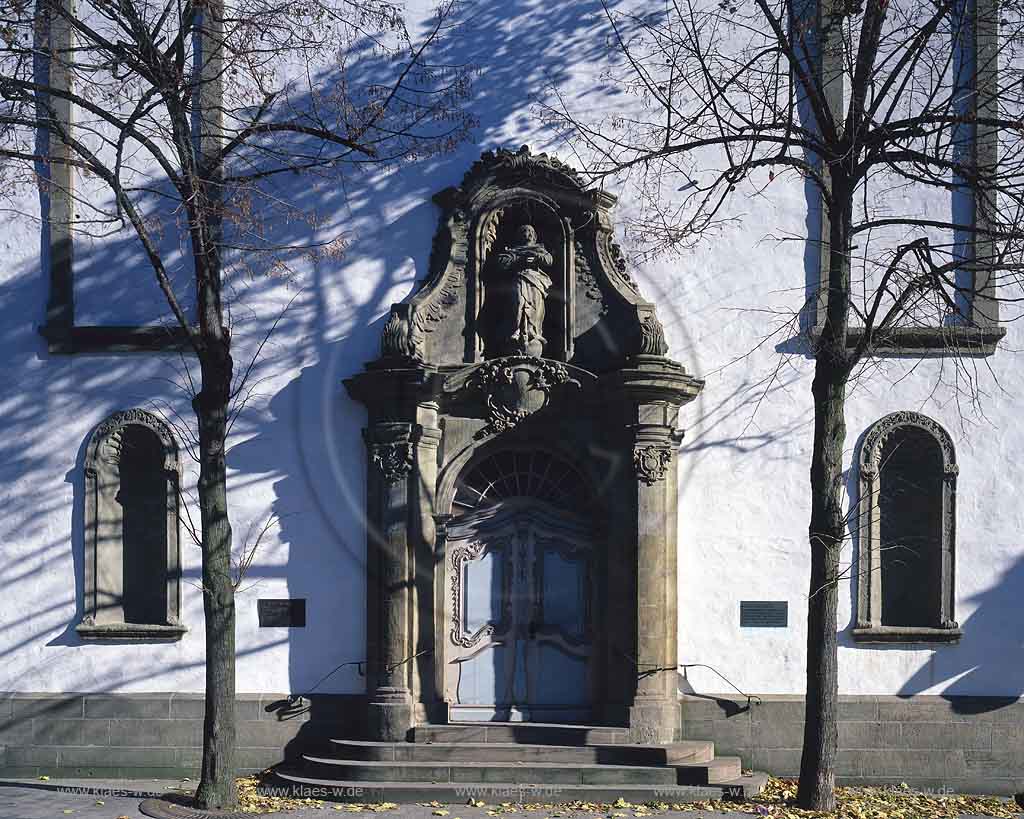
<svg viewBox="0 0 1024 819">
<path fill-rule="evenodd" d="M 178 447 L 144 410 L 115 413 L 85 458 L 85 640 L 175 640 L 179 621 Z"/>
</svg>

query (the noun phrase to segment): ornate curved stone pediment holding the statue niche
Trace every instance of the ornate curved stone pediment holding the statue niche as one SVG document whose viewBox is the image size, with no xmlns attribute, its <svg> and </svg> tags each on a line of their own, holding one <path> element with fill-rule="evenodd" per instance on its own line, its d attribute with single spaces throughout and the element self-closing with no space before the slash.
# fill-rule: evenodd
<svg viewBox="0 0 1024 819">
<path fill-rule="evenodd" d="M 614 241 L 615 198 L 546 154 L 488 150 L 439 192 L 427 278 L 392 307 L 381 358 L 457 365 L 526 354 L 591 372 L 668 351 Z"/>
</svg>

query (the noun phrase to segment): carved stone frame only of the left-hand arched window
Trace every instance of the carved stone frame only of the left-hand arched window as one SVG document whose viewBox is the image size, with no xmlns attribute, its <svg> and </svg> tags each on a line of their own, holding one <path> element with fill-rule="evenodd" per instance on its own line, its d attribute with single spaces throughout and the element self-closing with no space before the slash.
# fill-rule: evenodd
<svg viewBox="0 0 1024 819">
<path fill-rule="evenodd" d="M 117 450 L 109 444 L 129 427 L 144 427 L 154 433 L 163 447 L 164 483 L 167 487 L 165 521 L 167 526 L 167 612 L 163 623 L 97 621 L 99 618 L 98 567 L 105 545 L 99 536 L 100 478 L 115 466 Z M 85 456 L 85 613 L 76 627 L 83 640 L 179 640 L 188 630 L 181 624 L 180 499 L 181 463 L 171 428 L 145 410 L 133 407 L 115 413 L 93 430 Z M 123 555 L 122 555 L 123 559 Z"/>
</svg>

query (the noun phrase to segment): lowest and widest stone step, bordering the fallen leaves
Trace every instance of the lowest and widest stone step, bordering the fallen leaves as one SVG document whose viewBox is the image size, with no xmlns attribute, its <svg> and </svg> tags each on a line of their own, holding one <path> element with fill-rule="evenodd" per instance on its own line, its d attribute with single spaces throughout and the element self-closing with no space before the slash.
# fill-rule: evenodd
<svg viewBox="0 0 1024 819">
<path fill-rule="evenodd" d="M 730 784 L 734 793 L 753 796 L 759 790 L 752 777 L 750 792 L 746 785 Z M 766 777 L 767 779 L 767 777 Z M 290 786 L 296 795 L 335 802 L 410 804 L 439 802 L 446 805 L 465 805 L 467 800 L 482 800 L 489 805 L 504 802 L 520 804 L 558 804 L 566 802 L 613 803 L 622 798 L 633 804 L 646 802 L 690 803 L 722 799 L 727 794 L 719 785 L 531 785 L 515 782 L 488 782 L 486 784 L 456 784 L 434 782 L 362 782 L 358 780 L 316 779 L 303 774 L 281 770 L 274 772 L 272 786 Z M 760 785 L 763 787 L 763 783 Z M 734 796 L 740 799 L 741 796 Z"/>
</svg>

